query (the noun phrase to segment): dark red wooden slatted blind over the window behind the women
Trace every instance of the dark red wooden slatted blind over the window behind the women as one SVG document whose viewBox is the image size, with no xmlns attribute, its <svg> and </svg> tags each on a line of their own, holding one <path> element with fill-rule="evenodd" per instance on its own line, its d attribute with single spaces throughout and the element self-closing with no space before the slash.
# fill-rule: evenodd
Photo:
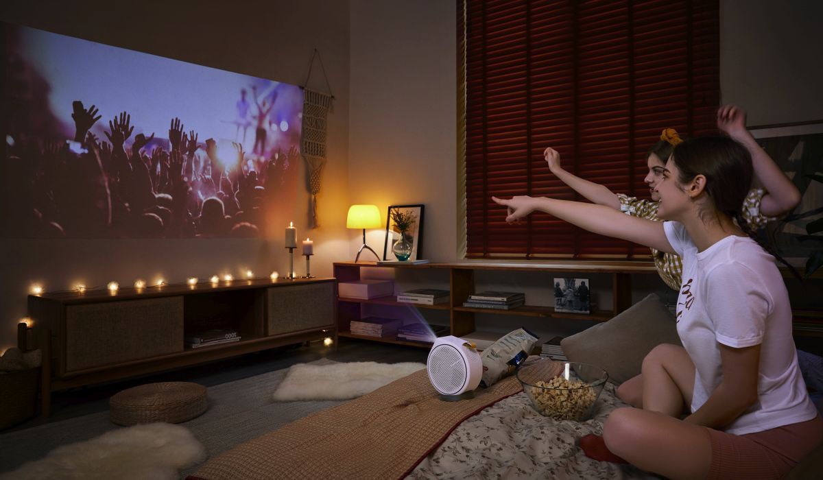
<svg viewBox="0 0 823 480">
<path fill-rule="evenodd" d="M 663 128 L 715 132 L 718 0 L 460 0 L 465 41 L 467 257 L 630 257 L 628 242 L 544 213 L 508 225 L 491 196 L 582 199 L 562 165 L 649 198 L 646 152 Z"/>
</svg>

